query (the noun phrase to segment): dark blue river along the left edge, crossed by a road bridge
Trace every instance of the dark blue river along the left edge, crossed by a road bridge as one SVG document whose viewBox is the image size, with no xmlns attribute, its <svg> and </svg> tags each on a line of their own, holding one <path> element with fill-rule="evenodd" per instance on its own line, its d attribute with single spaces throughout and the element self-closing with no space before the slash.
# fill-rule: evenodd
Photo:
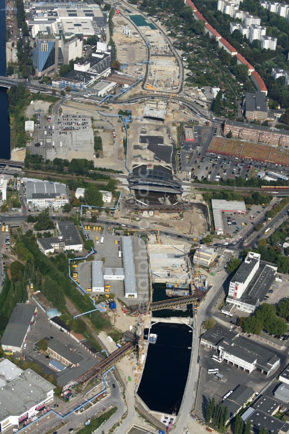
<svg viewBox="0 0 289 434">
<path fill-rule="evenodd" d="M 5 0 L 0 0 L 0 76 L 6 76 L 6 46 L 5 46 Z M 0 158 L 10 159 L 10 126 L 8 116 L 8 95 L 4 87 L 0 87 L 0 119 L 1 145 Z"/>
</svg>

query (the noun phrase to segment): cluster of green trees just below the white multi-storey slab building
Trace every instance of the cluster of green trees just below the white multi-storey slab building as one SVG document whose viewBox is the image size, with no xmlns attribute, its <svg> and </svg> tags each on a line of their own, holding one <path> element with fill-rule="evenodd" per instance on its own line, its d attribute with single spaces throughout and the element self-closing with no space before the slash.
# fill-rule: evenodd
<svg viewBox="0 0 289 434">
<path fill-rule="evenodd" d="M 273 304 L 263 303 L 254 313 L 249 317 L 241 316 L 238 320 L 238 325 L 244 329 L 246 333 L 253 333 L 260 335 L 262 330 L 270 335 L 282 336 L 288 330 L 286 322 L 278 318 L 276 307 Z"/>
</svg>

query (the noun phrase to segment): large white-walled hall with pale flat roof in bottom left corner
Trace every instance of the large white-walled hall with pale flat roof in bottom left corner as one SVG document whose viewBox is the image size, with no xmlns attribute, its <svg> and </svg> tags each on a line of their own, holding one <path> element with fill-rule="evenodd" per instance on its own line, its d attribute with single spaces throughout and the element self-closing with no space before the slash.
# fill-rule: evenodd
<svg viewBox="0 0 289 434">
<path fill-rule="evenodd" d="M 14 367 L 16 368 L 15 365 Z M 10 368 L 12 371 L 13 366 L 10 365 Z M 22 427 L 28 419 L 42 415 L 41 411 L 53 401 L 55 385 L 32 369 L 20 371 L 16 376 L 12 373 L 11 377 L 14 378 L 0 389 L 1 432 L 12 427 Z"/>
</svg>

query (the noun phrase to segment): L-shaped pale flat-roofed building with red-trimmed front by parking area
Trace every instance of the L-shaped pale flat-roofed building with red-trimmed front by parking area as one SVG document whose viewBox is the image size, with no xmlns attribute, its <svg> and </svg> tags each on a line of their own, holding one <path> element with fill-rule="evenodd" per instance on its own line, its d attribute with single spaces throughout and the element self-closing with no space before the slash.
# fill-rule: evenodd
<svg viewBox="0 0 289 434">
<path fill-rule="evenodd" d="M 234 215 L 245 215 L 246 205 L 243 201 L 225 201 L 221 199 L 212 199 L 212 210 L 214 216 L 214 226 L 217 235 L 224 234 L 224 224 L 222 214 L 230 213 Z"/>
</svg>

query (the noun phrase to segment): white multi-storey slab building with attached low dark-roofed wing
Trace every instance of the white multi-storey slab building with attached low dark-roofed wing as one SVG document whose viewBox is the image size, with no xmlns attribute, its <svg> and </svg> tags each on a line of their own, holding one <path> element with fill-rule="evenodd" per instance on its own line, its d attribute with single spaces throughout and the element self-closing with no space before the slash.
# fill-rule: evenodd
<svg viewBox="0 0 289 434">
<path fill-rule="evenodd" d="M 274 282 L 277 266 L 260 260 L 259 253 L 249 252 L 229 286 L 221 312 L 232 316 L 236 309 L 253 313 Z"/>
</svg>

